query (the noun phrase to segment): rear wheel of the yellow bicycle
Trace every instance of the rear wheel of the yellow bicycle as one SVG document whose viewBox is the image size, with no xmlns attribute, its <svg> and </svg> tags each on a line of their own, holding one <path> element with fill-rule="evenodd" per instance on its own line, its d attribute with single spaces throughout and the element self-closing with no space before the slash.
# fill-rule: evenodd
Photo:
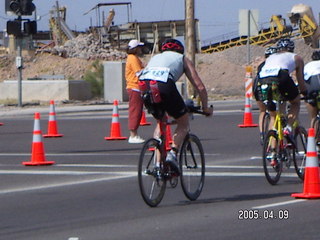
<svg viewBox="0 0 320 240">
<path fill-rule="evenodd" d="M 282 172 L 281 146 L 276 131 L 270 130 L 264 141 L 262 163 L 267 181 L 277 184 Z"/>
</svg>

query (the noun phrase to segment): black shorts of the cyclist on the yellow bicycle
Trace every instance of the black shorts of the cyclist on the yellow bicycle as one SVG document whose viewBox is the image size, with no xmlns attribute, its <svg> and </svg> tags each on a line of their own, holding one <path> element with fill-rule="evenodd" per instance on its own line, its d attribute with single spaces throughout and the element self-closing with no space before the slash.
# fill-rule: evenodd
<svg viewBox="0 0 320 240">
<path fill-rule="evenodd" d="M 276 77 L 259 78 L 255 79 L 255 81 L 259 81 L 261 84 L 263 84 L 263 82 L 277 81 L 279 83 L 279 92 L 285 101 L 292 101 L 299 95 L 298 87 L 290 77 L 287 70 L 280 70 L 278 76 Z M 255 86 L 256 84 L 257 82 L 253 85 Z M 259 94 L 257 91 L 255 91 L 255 89 L 254 96 L 258 101 L 260 100 Z"/>
</svg>

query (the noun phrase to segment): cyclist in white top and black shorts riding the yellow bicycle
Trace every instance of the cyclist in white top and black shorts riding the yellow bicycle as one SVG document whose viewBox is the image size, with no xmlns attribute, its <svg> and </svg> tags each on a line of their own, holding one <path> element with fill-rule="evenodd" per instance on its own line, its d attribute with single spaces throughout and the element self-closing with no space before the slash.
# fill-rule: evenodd
<svg viewBox="0 0 320 240">
<path fill-rule="evenodd" d="M 294 42 L 290 39 L 280 39 L 277 42 L 277 53 L 272 54 L 266 59 L 265 65 L 259 73 L 261 83 L 278 82 L 279 92 L 285 101 L 289 101 L 291 106 L 288 111 L 288 122 L 284 128 L 284 134 L 292 137 L 292 126 L 300 111 L 300 93 L 306 94 L 306 86 L 303 78 L 304 62 L 303 59 L 293 53 Z M 295 71 L 298 87 L 294 83 L 290 74 Z M 271 128 L 275 120 L 275 105 L 270 106 L 270 125 Z"/>
</svg>

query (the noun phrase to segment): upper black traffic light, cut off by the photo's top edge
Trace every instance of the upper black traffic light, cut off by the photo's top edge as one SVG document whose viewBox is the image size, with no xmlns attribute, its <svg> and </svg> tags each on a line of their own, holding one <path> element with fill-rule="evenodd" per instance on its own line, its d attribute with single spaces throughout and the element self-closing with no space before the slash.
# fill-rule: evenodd
<svg viewBox="0 0 320 240">
<path fill-rule="evenodd" d="M 32 2 L 33 0 L 6 0 L 6 11 L 13 12 L 16 15 L 32 15 L 36 6 Z"/>
</svg>

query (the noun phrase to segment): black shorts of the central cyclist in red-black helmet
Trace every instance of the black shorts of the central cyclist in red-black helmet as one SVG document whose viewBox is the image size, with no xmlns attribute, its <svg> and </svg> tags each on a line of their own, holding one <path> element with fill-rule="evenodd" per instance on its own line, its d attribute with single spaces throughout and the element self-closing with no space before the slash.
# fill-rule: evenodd
<svg viewBox="0 0 320 240">
<path fill-rule="evenodd" d="M 161 95 L 158 106 L 175 119 L 182 117 L 187 112 L 187 107 L 175 82 L 172 79 L 168 79 L 166 83 L 158 82 L 158 88 Z"/>
</svg>

